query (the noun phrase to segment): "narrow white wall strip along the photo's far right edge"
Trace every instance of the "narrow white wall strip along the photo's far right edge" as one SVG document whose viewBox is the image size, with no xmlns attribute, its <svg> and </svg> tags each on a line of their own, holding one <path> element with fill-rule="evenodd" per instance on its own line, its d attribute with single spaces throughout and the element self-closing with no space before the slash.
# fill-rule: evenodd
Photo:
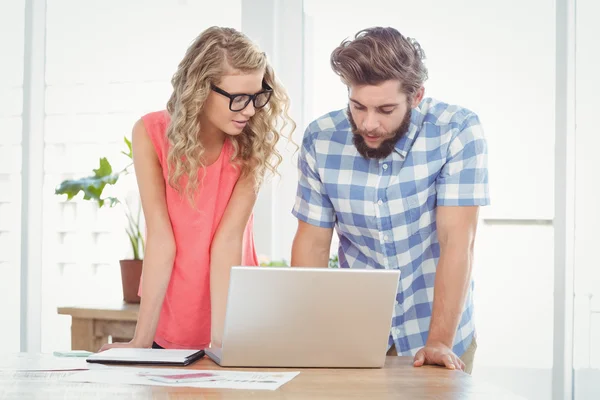
<svg viewBox="0 0 600 400">
<path fill-rule="evenodd" d="M 575 398 L 600 398 L 600 209 L 597 170 L 600 131 L 600 3 L 577 1 L 575 164 Z M 594 313 L 592 313 L 594 312 Z"/>
</svg>

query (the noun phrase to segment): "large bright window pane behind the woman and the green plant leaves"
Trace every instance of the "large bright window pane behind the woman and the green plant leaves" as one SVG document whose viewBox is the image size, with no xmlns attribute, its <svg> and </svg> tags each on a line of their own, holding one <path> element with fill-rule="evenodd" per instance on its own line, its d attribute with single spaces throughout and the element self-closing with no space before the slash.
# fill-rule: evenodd
<svg viewBox="0 0 600 400">
<path fill-rule="evenodd" d="M 144 113 L 166 107 L 170 80 L 209 26 L 240 29 L 241 0 L 47 0 L 42 350 L 70 347 L 58 305 L 122 300 L 119 259 L 130 257 L 124 216 L 54 195 L 106 157 L 129 160 L 123 138 Z M 77 32 L 77 34 L 73 34 Z M 135 177 L 121 190 L 137 191 Z"/>
</svg>

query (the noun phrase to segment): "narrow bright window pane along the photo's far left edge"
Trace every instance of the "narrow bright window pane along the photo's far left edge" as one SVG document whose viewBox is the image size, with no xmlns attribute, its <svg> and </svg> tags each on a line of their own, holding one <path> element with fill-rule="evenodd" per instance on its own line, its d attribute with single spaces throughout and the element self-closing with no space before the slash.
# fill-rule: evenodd
<svg viewBox="0 0 600 400">
<path fill-rule="evenodd" d="M 5 351 L 19 351 L 21 287 L 21 110 L 25 1 L 0 2 L 0 303 Z"/>
</svg>

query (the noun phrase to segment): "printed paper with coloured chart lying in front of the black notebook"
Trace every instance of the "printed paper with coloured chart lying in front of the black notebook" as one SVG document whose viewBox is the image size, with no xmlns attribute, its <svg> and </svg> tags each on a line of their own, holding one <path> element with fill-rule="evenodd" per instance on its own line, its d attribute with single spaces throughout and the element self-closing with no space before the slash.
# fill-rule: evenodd
<svg viewBox="0 0 600 400">
<path fill-rule="evenodd" d="M 246 372 L 163 368 L 106 368 L 75 372 L 68 382 L 214 389 L 276 390 L 300 372 Z M 186 377 L 187 376 L 187 377 Z M 170 379 L 177 378 L 177 379 Z M 171 383 L 169 381 L 175 381 Z M 169 382 L 169 383 L 167 383 Z"/>
</svg>

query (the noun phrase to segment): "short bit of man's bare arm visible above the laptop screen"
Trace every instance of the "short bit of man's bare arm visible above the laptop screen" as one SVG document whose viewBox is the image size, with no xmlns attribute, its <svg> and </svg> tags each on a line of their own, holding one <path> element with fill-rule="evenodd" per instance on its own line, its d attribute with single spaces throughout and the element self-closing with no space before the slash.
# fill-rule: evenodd
<svg viewBox="0 0 600 400">
<path fill-rule="evenodd" d="M 327 267 L 333 228 L 321 228 L 298 220 L 292 245 L 292 267 Z"/>
</svg>

